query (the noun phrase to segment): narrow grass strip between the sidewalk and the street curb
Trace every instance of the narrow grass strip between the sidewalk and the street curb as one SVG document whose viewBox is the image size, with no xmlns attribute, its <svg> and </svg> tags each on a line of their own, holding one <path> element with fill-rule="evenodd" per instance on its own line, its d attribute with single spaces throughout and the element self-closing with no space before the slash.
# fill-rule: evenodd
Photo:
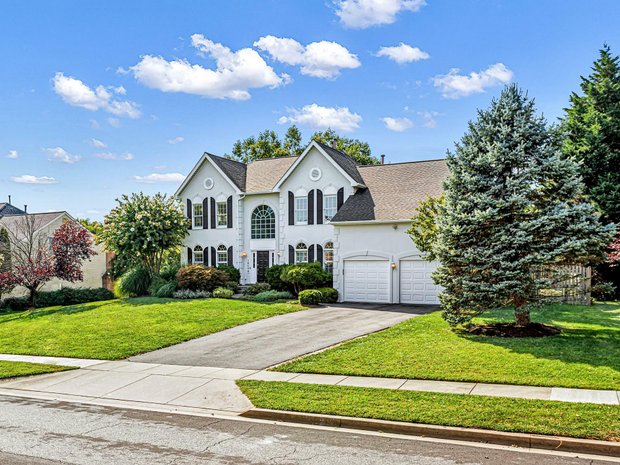
<svg viewBox="0 0 620 465">
<path fill-rule="evenodd" d="M 256 407 L 620 441 L 620 407 L 270 381 L 237 381 Z"/>
</svg>

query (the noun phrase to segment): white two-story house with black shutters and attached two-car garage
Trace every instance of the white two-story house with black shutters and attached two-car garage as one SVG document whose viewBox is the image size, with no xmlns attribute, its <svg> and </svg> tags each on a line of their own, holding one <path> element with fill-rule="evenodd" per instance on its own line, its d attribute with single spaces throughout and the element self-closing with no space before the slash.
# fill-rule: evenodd
<svg viewBox="0 0 620 465">
<path fill-rule="evenodd" d="M 406 230 L 447 174 L 443 160 L 358 166 L 314 141 L 248 165 L 205 153 L 176 192 L 191 222 L 182 260 L 234 265 L 243 284 L 317 261 L 343 301 L 438 303 L 435 265 Z"/>
</svg>

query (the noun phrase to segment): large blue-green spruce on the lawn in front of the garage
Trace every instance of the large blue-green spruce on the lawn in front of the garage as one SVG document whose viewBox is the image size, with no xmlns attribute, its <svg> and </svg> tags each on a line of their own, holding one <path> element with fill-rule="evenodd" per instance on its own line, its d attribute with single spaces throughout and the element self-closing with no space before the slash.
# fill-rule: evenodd
<svg viewBox="0 0 620 465">
<path fill-rule="evenodd" d="M 584 202 L 577 166 L 560 152 L 534 102 L 511 85 L 448 154 L 433 251 L 451 325 L 512 307 L 525 326 L 549 285 L 539 271 L 603 258 L 613 227 Z"/>
</svg>

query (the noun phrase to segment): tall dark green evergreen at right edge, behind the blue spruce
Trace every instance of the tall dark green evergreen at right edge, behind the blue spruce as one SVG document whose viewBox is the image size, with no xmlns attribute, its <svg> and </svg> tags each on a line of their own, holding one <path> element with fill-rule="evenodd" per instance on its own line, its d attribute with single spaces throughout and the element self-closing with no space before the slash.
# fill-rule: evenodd
<svg viewBox="0 0 620 465">
<path fill-rule="evenodd" d="M 599 51 L 592 73 L 581 78 L 565 109 L 563 153 L 580 163 L 585 192 L 603 214 L 620 223 L 620 63 L 608 45 Z"/>
</svg>

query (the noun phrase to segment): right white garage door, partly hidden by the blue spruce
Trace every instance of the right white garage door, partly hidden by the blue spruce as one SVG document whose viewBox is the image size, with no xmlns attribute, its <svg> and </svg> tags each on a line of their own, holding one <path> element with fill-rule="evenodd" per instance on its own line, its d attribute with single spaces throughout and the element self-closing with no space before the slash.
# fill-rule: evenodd
<svg viewBox="0 0 620 465">
<path fill-rule="evenodd" d="M 439 304 L 441 288 L 431 274 L 437 264 L 426 260 L 400 261 L 400 302 L 403 304 Z"/>
</svg>

